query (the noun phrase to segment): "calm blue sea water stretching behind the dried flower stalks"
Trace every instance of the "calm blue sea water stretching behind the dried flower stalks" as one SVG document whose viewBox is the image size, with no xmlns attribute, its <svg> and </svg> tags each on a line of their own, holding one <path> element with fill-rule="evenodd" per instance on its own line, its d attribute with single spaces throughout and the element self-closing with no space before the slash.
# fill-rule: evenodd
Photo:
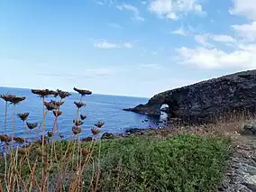
<svg viewBox="0 0 256 192">
<path fill-rule="evenodd" d="M 26 96 L 26 100 L 20 105 L 17 105 L 16 113 L 30 113 L 28 122 L 40 123 L 42 117 L 42 102 L 41 98 L 32 95 L 29 89 L 0 87 L 0 95 L 14 94 L 17 96 Z M 50 100 L 50 97 L 48 98 Z M 59 116 L 59 132 L 65 137 L 69 137 L 72 133 L 72 121 L 76 117 L 76 107 L 74 101 L 78 101 L 78 94 L 72 94 L 65 100 L 65 104 L 61 106 L 62 115 Z M 142 103 L 146 103 L 148 98 L 127 97 L 127 96 L 103 96 L 92 95 L 85 96 L 83 101 L 87 104 L 82 109 L 82 114 L 87 114 L 87 119 L 83 125 L 81 138 L 91 136 L 90 128 L 98 121 L 105 122 L 102 128 L 102 133 L 123 133 L 129 128 L 148 128 L 156 126 L 159 119 L 150 118 L 143 114 L 135 114 L 132 112 L 125 112 L 123 108 L 133 107 Z M 8 107 L 8 130 L 7 134 L 12 133 L 12 124 L 14 114 L 14 106 Z M 142 123 L 143 120 L 148 119 L 148 122 Z M 53 127 L 54 115 L 52 113 L 46 116 L 46 131 L 51 131 Z M 5 124 L 5 102 L 0 101 L 0 133 L 4 133 Z M 32 134 L 34 134 L 32 132 Z M 23 123 L 15 118 L 15 136 L 23 135 Z M 26 137 L 29 137 L 29 130 L 26 130 Z"/>
</svg>

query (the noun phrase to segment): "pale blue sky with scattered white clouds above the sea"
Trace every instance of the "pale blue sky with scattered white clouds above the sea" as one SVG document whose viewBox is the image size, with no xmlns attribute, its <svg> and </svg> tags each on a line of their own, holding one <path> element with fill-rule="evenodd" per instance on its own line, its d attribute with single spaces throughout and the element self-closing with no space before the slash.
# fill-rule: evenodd
<svg viewBox="0 0 256 192">
<path fill-rule="evenodd" d="M 253 2 L 0 1 L 0 86 L 150 97 L 255 69 Z"/>
</svg>

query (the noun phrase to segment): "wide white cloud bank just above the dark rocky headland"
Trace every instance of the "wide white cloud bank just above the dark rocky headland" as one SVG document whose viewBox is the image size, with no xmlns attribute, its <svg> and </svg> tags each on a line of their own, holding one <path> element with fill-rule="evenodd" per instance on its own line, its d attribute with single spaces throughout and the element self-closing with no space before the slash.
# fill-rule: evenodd
<svg viewBox="0 0 256 192">
<path fill-rule="evenodd" d="M 195 49 L 182 47 L 177 50 L 182 64 L 196 66 L 202 69 L 255 69 L 256 45 L 250 49 L 241 45 L 239 50 L 227 52 L 217 48 L 197 47 Z"/>
</svg>

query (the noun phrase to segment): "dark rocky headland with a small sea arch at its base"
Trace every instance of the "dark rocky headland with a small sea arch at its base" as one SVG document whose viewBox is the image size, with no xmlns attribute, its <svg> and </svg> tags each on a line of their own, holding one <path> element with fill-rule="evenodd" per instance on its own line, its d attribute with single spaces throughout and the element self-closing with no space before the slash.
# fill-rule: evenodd
<svg viewBox="0 0 256 192">
<path fill-rule="evenodd" d="M 170 118 L 207 121 L 228 113 L 256 112 L 256 70 L 162 92 L 145 105 L 124 109 L 140 114 L 160 115 L 161 105 L 169 105 Z"/>
</svg>

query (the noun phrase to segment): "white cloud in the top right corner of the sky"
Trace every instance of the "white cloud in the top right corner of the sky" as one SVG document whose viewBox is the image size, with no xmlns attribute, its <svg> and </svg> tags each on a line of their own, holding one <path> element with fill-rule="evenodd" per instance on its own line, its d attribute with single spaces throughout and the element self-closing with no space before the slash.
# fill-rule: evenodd
<svg viewBox="0 0 256 192">
<path fill-rule="evenodd" d="M 233 0 L 233 8 L 229 13 L 244 15 L 252 21 L 256 21 L 255 0 Z"/>
</svg>

